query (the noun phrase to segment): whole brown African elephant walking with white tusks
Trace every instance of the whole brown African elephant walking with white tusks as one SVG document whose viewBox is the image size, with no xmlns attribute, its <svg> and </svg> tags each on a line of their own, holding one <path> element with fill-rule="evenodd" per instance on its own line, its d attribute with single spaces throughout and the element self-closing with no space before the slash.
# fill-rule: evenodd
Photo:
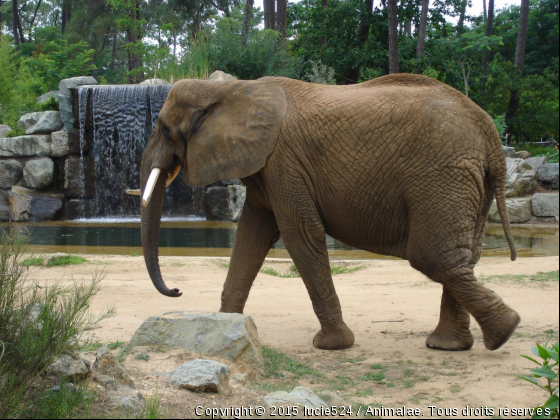
<svg viewBox="0 0 560 420">
<path fill-rule="evenodd" d="M 488 349 L 520 318 L 474 275 L 494 197 L 512 260 L 506 165 L 492 119 L 434 79 L 390 75 L 352 86 L 282 77 L 182 80 L 173 85 L 142 158 L 142 245 L 156 289 L 166 184 L 183 168 L 190 186 L 241 178 L 247 200 L 222 293 L 222 312 L 243 312 L 270 247 L 282 237 L 321 329 L 313 344 L 344 349 L 325 234 L 406 259 L 443 285 L 440 321 L 427 346 L 473 345 L 472 314 Z"/>
</svg>

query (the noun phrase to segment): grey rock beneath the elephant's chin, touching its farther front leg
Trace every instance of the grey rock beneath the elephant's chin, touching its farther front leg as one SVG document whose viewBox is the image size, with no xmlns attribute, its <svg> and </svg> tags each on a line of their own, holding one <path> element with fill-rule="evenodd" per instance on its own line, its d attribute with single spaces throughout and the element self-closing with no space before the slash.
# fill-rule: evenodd
<svg viewBox="0 0 560 420">
<path fill-rule="evenodd" d="M 237 222 L 245 204 L 246 188 L 244 185 L 227 187 L 210 187 L 204 193 L 206 218 L 216 221 Z"/>
</svg>

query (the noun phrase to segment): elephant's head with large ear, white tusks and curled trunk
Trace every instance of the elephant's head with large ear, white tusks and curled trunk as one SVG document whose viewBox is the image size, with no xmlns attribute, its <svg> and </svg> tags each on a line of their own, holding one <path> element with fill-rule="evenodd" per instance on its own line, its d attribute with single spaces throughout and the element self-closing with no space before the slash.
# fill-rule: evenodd
<svg viewBox="0 0 560 420">
<path fill-rule="evenodd" d="M 142 247 L 156 289 L 178 297 L 163 282 L 158 259 L 165 187 L 183 168 L 192 187 L 243 178 L 262 169 L 274 150 L 287 112 L 283 89 L 272 79 L 173 85 L 142 156 Z"/>
</svg>

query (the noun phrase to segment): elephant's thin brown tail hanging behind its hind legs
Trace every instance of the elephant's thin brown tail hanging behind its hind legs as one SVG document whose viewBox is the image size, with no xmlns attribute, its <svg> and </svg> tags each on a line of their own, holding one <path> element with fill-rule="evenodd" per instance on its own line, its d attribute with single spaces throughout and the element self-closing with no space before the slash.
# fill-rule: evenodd
<svg viewBox="0 0 560 420">
<path fill-rule="evenodd" d="M 498 137 L 499 151 L 494 151 L 494 153 L 490 154 L 490 178 L 492 180 L 492 184 L 494 185 L 498 213 L 500 214 L 500 218 L 502 219 L 502 226 L 504 228 L 506 240 L 508 242 L 509 249 L 511 250 L 511 260 L 515 261 L 517 259 L 517 250 L 515 249 L 515 242 L 513 241 L 511 224 L 506 207 L 507 167 L 505 162 L 505 154 L 501 147 L 502 142 L 499 136 L 496 137 Z"/>
</svg>

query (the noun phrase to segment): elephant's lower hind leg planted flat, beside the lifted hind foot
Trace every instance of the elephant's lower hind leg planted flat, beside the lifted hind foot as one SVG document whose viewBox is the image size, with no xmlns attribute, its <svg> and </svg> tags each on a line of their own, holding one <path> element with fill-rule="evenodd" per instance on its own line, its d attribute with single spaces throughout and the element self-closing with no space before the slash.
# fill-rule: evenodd
<svg viewBox="0 0 560 420">
<path fill-rule="evenodd" d="M 426 346 L 438 350 L 469 350 L 474 343 L 470 323 L 470 314 L 444 286 L 439 324 L 428 336 Z"/>
</svg>

